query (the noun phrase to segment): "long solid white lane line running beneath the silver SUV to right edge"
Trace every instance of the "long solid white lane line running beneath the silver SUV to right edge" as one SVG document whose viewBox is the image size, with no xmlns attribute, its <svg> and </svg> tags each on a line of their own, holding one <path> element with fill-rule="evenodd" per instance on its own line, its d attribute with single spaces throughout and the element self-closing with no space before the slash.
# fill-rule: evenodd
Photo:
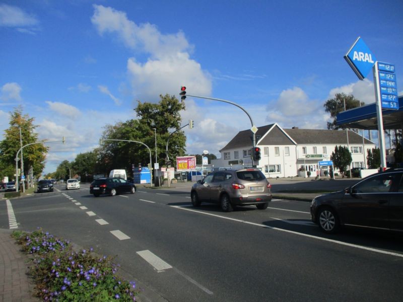
<svg viewBox="0 0 403 302">
<path fill-rule="evenodd" d="M 228 218 L 228 217 L 225 217 L 225 216 L 220 216 L 220 215 L 211 214 L 211 213 L 205 213 L 205 212 L 189 209 L 189 208 L 182 207 L 182 206 L 177 206 L 177 205 L 170 205 L 170 206 L 174 207 L 174 208 L 186 210 L 186 211 L 196 212 L 196 213 L 215 216 L 215 217 L 224 218 L 224 219 L 230 219 L 230 220 L 234 220 L 234 221 L 237 221 L 237 222 L 244 222 L 244 223 L 247 223 L 247 224 L 259 226 L 260 228 L 266 228 L 266 229 L 281 231 L 281 232 L 290 233 L 290 234 L 294 234 L 294 235 L 298 235 L 298 236 L 304 236 L 304 237 L 308 237 L 308 238 L 312 238 L 312 239 L 317 239 L 317 240 L 327 241 L 327 242 L 331 242 L 331 243 L 335 243 L 335 244 L 339 244 L 339 245 L 344 245 L 344 246 L 348 246 L 348 247 L 352 247 L 352 248 L 356 248 L 356 249 L 361 249 L 361 250 L 366 250 L 366 251 L 371 251 L 371 252 L 375 252 L 375 253 L 386 254 L 386 255 L 391 255 L 391 256 L 396 256 L 396 257 L 403 258 L 403 254 L 382 251 L 382 250 L 373 249 L 373 248 L 364 247 L 364 246 L 359 246 L 359 245 L 351 244 L 351 243 L 347 243 L 347 242 L 342 242 L 342 241 L 337 241 L 337 240 L 333 240 L 333 239 L 327 239 L 327 238 L 318 237 L 318 236 L 314 236 L 314 235 L 308 235 L 308 234 L 304 234 L 304 233 L 298 233 L 298 232 L 294 232 L 294 231 L 284 230 L 284 229 L 280 229 L 280 228 L 275 228 L 274 226 L 264 225 L 264 224 L 261 224 L 261 223 L 255 223 L 255 222 L 250 222 L 250 221 L 244 221 L 244 220 Z"/>
</svg>

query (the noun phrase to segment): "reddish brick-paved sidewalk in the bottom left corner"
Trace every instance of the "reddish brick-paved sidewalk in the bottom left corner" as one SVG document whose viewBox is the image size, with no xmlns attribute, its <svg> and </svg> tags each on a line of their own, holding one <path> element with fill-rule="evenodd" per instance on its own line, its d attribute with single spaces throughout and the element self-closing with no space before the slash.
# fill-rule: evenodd
<svg viewBox="0 0 403 302">
<path fill-rule="evenodd" d="M 0 229 L 0 300 L 38 302 L 40 299 L 32 296 L 33 284 L 26 274 L 28 257 L 10 237 L 12 232 Z"/>
</svg>

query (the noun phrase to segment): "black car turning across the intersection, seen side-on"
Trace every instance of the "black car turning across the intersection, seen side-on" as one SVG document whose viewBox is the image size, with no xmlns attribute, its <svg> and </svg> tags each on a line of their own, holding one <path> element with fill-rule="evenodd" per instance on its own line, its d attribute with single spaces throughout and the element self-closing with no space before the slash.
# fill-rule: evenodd
<svg viewBox="0 0 403 302">
<path fill-rule="evenodd" d="M 101 194 L 115 196 L 121 193 L 136 192 L 136 185 L 120 177 L 104 177 L 94 180 L 90 185 L 90 194 L 98 197 Z"/>
</svg>

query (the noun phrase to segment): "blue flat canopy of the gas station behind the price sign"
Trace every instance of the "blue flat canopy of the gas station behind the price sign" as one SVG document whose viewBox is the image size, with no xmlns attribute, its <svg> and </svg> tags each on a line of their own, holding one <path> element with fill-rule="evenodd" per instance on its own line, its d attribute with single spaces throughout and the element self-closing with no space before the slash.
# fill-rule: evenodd
<svg viewBox="0 0 403 302">
<path fill-rule="evenodd" d="M 398 97 L 398 102 L 398 110 L 382 109 L 384 129 L 403 128 L 403 96 Z M 337 124 L 346 128 L 377 130 L 376 104 L 340 112 L 337 115 Z"/>
</svg>

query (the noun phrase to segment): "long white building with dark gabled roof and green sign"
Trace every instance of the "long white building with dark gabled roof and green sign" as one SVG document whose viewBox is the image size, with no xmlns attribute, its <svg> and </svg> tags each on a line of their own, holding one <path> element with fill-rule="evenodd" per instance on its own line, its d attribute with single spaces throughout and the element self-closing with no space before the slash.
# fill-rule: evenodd
<svg viewBox="0 0 403 302">
<path fill-rule="evenodd" d="M 251 136 L 249 129 L 238 132 L 220 150 L 221 158 L 212 161 L 214 167 L 252 166 Z M 282 129 L 275 123 L 258 128 L 256 146 L 261 149 L 257 168 L 266 177 L 296 176 L 302 167 L 311 172 L 311 177 L 316 177 L 318 162 L 330 161 L 335 146 L 350 148 L 353 158 L 351 168 L 355 168 L 367 166 L 367 149 L 374 148 L 375 144 L 351 130 Z"/>
</svg>

